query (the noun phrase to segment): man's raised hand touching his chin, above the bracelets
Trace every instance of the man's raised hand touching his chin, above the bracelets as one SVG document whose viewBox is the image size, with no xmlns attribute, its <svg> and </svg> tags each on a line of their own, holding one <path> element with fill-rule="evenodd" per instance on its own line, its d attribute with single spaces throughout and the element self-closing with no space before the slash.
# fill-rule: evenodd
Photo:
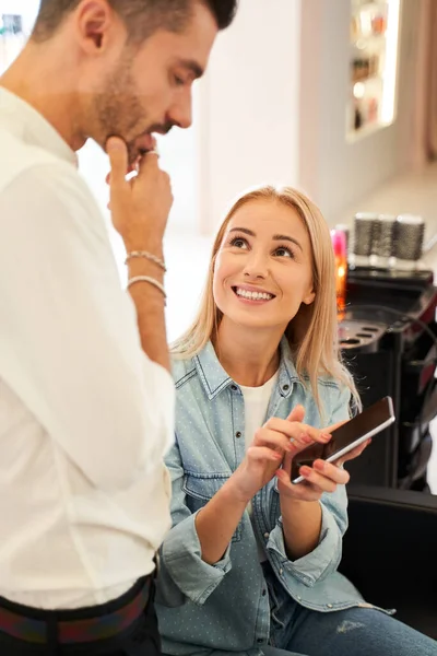
<svg viewBox="0 0 437 656">
<path fill-rule="evenodd" d="M 132 168 L 127 145 L 117 137 L 108 140 L 107 152 L 111 167 L 107 181 L 114 227 L 128 251 L 150 250 L 160 256 L 173 204 L 168 174 L 160 168 L 155 151 L 145 153 Z M 127 174 L 134 169 L 138 174 L 128 180 Z"/>
</svg>

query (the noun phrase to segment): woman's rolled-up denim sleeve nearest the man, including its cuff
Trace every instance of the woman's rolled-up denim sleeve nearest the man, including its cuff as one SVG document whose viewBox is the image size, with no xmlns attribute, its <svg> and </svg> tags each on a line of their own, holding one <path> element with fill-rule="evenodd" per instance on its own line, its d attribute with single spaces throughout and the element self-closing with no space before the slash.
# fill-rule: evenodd
<svg viewBox="0 0 437 656">
<path fill-rule="evenodd" d="M 165 462 L 172 477 L 173 528 L 161 547 L 157 597 L 164 606 L 180 606 L 185 598 L 202 606 L 232 567 L 231 544 L 215 564 L 202 560 L 196 530 L 198 513 L 191 513 L 186 504 L 185 473 L 177 442 Z"/>
</svg>

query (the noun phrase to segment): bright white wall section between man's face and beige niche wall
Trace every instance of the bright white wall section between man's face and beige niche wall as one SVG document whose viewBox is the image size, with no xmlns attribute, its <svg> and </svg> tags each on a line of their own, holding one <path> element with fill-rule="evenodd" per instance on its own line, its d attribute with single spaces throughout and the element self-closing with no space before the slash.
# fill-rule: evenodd
<svg viewBox="0 0 437 656">
<path fill-rule="evenodd" d="M 305 0 L 306 1 L 306 0 Z M 201 89 L 201 227 L 265 181 L 296 184 L 300 0 L 241 0 Z"/>
</svg>

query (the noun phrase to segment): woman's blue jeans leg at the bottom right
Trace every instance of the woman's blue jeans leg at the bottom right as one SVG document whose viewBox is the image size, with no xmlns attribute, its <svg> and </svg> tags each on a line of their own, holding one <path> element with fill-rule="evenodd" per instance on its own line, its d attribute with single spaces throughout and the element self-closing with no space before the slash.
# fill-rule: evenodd
<svg viewBox="0 0 437 656">
<path fill-rule="evenodd" d="M 271 643 L 265 656 L 437 656 L 436 641 L 371 608 L 318 612 L 296 605 L 285 626 L 272 626 Z"/>
</svg>

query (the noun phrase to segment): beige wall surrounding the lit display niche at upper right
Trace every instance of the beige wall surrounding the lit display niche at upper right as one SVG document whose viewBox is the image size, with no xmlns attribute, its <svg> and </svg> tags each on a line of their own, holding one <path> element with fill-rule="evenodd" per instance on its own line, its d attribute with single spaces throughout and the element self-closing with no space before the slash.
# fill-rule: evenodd
<svg viewBox="0 0 437 656">
<path fill-rule="evenodd" d="M 330 222 L 413 162 L 418 0 L 403 0 L 395 122 L 345 139 L 351 0 L 303 2 L 300 184 Z"/>
</svg>

